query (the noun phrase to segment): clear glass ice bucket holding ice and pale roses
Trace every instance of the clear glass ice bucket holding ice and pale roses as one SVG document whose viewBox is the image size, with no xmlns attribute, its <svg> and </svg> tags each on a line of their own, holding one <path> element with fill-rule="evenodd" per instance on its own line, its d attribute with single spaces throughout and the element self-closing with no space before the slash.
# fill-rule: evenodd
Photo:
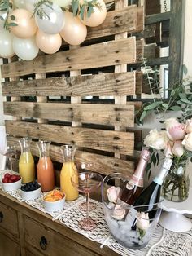
<svg viewBox="0 0 192 256">
<path fill-rule="evenodd" d="M 142 249 L 151 240 L 161 214 L 160 203 L 133 207 L 118 199 L 126 179 L 109 174 L 103 179 L 103 211 L 107 226 L 116 241 L 129 249 Z"/>
</svg>

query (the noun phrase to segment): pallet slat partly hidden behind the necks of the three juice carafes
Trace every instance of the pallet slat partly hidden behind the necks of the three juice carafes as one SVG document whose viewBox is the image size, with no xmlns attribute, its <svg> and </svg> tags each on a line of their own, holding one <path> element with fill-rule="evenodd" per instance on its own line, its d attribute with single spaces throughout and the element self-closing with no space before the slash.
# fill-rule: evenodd
<svg viewBox="0 0 192 256">
<path fill-rule="evenodd" d="M 7 143 L 8 145 L 15 145 L 16 149 L 20 151 L 18 139 L 19 138 L 8 136 Z M 39 151 L 35 142 L 31 143 L 31 151 L 33 156 L 39 156 Z M 58 146 L 50 145 L 50 158 L 53 161 L 63 163 L 63 154 Z M 84 152 L 78 149 L 76 150 L 75 158 L 76 161 L 85 163 L 94 162 L 97 166 L 97 170 L 99 170 L 99 173 L 105 175 L 111 174 L 112 172 L 121 172 L 124 175 L 129 176 L 134 170 L 133 161 L 124 161 L 115 157 L 107 157 L 90 152 Z"/>
</svg>

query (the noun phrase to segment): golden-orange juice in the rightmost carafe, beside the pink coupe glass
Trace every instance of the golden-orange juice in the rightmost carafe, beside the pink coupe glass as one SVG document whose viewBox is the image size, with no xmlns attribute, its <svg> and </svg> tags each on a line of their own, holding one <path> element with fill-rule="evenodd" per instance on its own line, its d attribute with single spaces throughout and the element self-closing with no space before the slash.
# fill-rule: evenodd
<svg viewBox="0 0 192 256">
<path fill-rule="evenodd" d="M 79 192 L 72 185 L 72 175 L 76 174 L 76 167 L 73 161 L 67 161 L 63 163 L 63 167 L 60 174 L 60 187 L 61 191 L 66 194 L 66 201 L 73 201 L 79 196 Z M 77 178 L 78 179 L 78 178 Z"/>
</svg>

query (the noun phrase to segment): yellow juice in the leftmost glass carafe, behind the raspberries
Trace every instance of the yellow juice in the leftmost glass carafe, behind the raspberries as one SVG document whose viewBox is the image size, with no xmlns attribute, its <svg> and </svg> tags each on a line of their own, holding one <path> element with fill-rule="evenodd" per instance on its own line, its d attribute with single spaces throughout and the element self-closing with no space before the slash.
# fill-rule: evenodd
<svg viewBox="0 0 192 256">
<path fill-rule="evenodd" d="M 35 180 L 35 164 L 31 152 L 23 152 L 20 155 L 19 172 L 22 177 L 22 183 Z"/>
</svg>

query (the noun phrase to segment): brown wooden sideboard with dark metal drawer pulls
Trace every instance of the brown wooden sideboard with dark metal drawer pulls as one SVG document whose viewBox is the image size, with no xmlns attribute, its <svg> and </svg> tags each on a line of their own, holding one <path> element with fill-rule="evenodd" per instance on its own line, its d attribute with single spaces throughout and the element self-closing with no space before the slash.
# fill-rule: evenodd
<svg viewBox="0 0 192 256">
<path fill-rule="evenodd" d="M 0 191 L 1 256 L 118 255 Z"/>
</svg>

